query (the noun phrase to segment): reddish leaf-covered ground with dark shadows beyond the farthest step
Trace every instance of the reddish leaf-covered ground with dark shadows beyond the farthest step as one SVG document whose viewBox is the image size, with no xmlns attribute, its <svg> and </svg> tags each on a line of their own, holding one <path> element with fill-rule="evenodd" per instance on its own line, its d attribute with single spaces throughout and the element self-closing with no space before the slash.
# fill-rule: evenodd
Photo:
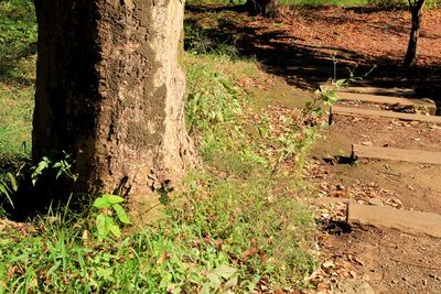
<svg viewBox="0 0 441 294">
<path fill-rule="evenodd" d="M 233 10 L 233 11 L 232 11 Z M 316 89 L 349 68 L 362 85 L 415 88 L 420 97 L 441 101 L 441 9 L 423 15 L 417 66 L 401 64 L 410 32 L 407 10 L 370 8 L 298 8 L 278 19 L 248 18 L 235 8 L 187 7 L 189 32 L 211 44 L 229 44 L 240 57 L 256 58 L 267 73 L 301 89 Z"/>
</svg>

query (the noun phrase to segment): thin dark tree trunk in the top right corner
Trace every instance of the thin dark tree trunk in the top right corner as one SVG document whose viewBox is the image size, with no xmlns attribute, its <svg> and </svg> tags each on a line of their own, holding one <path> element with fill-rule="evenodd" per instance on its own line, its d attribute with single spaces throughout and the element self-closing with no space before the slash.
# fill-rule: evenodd
<svg viewBox="0 0 441 294">
<path fill-rule="evenodd" d="M 405 67 L 411 67 L 417 62 L 417 43 L 420 35 L 422 11 L 426 0 L 408 0 L 412 15 L 412 28 L 410 30 L 409 45 L 405 57 Z"/>
</svg>

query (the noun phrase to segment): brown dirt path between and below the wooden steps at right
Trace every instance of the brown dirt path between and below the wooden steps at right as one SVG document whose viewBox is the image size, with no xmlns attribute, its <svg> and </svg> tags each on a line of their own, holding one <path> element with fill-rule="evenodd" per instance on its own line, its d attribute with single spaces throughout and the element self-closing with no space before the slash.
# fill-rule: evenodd
<svg viewBox="0 0 441 294">
<path fill-rule="evenodd" d="M 440 126 L 337 116 L 325 135 L 312 152 L 309 170 L 321 197 L 441 214 L 441 165 L 386 160 L 342 162 L 349 156 L 353 143 L 440 152 Z M 394 229 L 342 227 L 336 221 L 344 221 L 345 208 L 338 203 L 319 208 L 324 225 L 323 255 L 333 264 L 322 266 L 327 276 L 324 281 L 366 281 L 376 293 L 441 291 L 441 239 Z"/>
</svg>

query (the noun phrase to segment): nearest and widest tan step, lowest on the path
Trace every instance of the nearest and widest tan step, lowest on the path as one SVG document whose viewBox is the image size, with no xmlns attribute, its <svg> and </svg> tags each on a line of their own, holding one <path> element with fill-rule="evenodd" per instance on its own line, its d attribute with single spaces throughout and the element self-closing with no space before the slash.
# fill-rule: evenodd
<svg viewBox="0 0 441 294">
<path fill-rule="evenodd" d="M 432 213 L 348 203 L 346 220 L 349 226 L 373 226 L 441 238 L 441 216 Z"/>
</svg>

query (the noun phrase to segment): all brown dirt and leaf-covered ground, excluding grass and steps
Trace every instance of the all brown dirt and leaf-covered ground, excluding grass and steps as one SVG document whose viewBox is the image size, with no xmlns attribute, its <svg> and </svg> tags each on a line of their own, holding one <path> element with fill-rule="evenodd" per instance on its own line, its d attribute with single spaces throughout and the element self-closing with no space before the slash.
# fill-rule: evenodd
<svg viewBox="0 0 441 294">
<path fill-rule="evenodd" d="M 411 88 L 417 97 L 437 101 L 439 112 L 441 10 L 426 13 L 418 64 L 405 70 L 401 62 L 410 24 L 407 11 L 311 8 L 265 20 L 230 11 L 214 17 L 212 9 L 190 9 L 193 12 L 187 23 L 200 30 L 200 36 L 208 40 L 206 44 L 235 45 L 239 56 L 261 63 L 271 78 L 243 80 L 243 86 L 262 105 L 302 108 L 313 97 L 312 90 L 333 77 L 335 63 L 338 78 L 347 77 L 345 68 L 363 76 L 375 67 L 357 86 Z M 351 155 L 353 143 L 441 152 L 439 124 L 336 116 L 335 123 L 322 134 L 305 170 L 319 198 L 349 198 L 366 205 L 379 200 L 394 209 L 441 213 L 437 181 L 441 166 L 337 160 Z M 441 288 L 439 239 L 388 228 L 341 226 L 346 218 L 343 202 L 318 205 L 318 209 L 325 261 L 312 276 L 319 293 L 438 293 Z"/>
</svg>

